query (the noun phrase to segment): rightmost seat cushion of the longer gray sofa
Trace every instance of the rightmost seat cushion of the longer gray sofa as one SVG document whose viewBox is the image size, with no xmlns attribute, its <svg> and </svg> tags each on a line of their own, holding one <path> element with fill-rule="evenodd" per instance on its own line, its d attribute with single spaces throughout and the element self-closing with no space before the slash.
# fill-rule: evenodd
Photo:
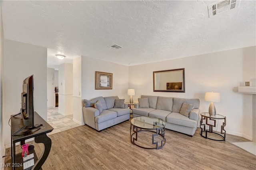
<svg viewBox="0 0 256 170">
<path fill-rule="evenodd" d="M 187 126 L 190 128 L 196 128 L 197 123 L 195 120 L 191 120 L 186 116 L 183 116 L 180 113 L 172 112 L 166 116 L 166 122 L 172 123 L 172 124 L 178 124 L 181 126 Z"/>
</svg>

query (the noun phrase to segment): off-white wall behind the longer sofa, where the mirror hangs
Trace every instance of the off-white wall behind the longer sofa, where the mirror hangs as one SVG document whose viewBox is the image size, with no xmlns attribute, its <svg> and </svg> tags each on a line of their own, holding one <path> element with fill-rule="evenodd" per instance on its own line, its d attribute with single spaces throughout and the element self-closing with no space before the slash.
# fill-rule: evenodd
<svg viewBox="0 0 256 170">
<path fill-rule="evenodd" d="M 249 126 L 252 126 L 252 111 L 244 113 L 244 108 L 252 108 L 252 104 L 244 101 L 251 99 L 252 96 L 240 94 L 234 87 L 237 87 L 239 82 L 256 77 L 255 56 L 255 46 L 253 46 L 130 66 L 129 88 L 134 88 L 136 91 L 134 102 L 138 102 L 142 94 L 199 98 L 200 112 L 208 112 L 210 102 L 204 101 L 205 92 L 220 92 L 221 102 L 214 104 L 217 114 L 227 117 L 225 127 L 227 133 L 251 138 L 252 127 Z M 176 68 L 185 68 L 186 92 L 153 92 L 153 71 Z M 246 76 L 245 69 L 248 70 Z"/>
</svg>

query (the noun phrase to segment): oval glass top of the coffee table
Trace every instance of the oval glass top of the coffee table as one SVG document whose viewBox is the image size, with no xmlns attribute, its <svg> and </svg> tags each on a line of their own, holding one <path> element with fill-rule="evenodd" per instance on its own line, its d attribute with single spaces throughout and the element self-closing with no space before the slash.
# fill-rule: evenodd
<svg viewBox="0 0 256 170">
<path fill-rule="evenodd" d="M 163 120 L 145 116 L 132 118 L 131 124 L 143 129 L 157 129 L 165 127 L 165 123 Z"/>
</svg>

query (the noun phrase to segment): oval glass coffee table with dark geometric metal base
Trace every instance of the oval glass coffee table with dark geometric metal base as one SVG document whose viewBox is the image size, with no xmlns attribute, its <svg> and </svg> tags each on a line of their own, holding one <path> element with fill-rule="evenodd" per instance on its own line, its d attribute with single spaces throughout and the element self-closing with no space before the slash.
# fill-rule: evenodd
<svg viewBox="0 0 256 170">
<path fill-rule="evenodd" d="M 138 141 L 139 132 L 150 132 L 152 134 L 152 145 L 153 147 L 142 146 Z M 162 119 L 151 118 L 146 116 L 139 116 L 132 118 L 130 126 L 130 136 L 132 144 L 145 149 L 160 149 L 165 143 L 165 123 Z M 160 138 L 160 139 L 159 139 Z M 145 138 L 140 138 L 140 141 L 146 140 Z M 158 142 L 161 144 L 158 144 Z M 159 146 L 160 145 L 160 146 Z"/>
</svg>

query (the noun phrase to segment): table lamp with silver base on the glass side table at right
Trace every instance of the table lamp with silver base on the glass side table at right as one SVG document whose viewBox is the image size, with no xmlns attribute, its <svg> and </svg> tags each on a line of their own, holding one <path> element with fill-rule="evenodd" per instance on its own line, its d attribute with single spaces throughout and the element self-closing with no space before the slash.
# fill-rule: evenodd
<svg viewBox="0 0 256 170">
<path fill-rule="evenodd" d="M 216 115 L 216 108 L 213 102 L 220 102 L 220 93 L 206 92 L 204 96 L 204 100 L 207 102 L 211 102 L 209 106 L 209 114 L 210 116 Z"/>
</svg>

